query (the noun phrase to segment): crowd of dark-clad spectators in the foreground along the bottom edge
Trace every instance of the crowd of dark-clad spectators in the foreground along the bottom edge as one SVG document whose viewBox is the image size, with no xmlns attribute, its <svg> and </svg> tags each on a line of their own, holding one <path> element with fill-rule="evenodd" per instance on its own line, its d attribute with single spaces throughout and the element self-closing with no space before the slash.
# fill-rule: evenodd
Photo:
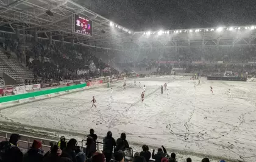
<svg viewBox="0 0 256 162">
<path fill-rule="evenodd" d="M 169 153 L 164 146 L 152 153 L 147 145 L 142 146 L 141 152 L 131 155 L 130 146 L 126 140 L 126 133 L 121 133 L 120 138 L 114 139 L 112 132 L 108 131 L 103 138 L 103 148 L 97 148 L 98 136 L 94 130 L 90 130 L 87 135 L 85 147 L 77 146 L 77 140 L 72 138 L 66 141 L 65 136 L 61 136 L 60 141 L 52 144 L 48 152 L 41 149 L 41 141 L 34 140 L 32 146 L 23 152 L 19 147 L 21 136 L 13 133 L 9 141 L 0 143 L 0 162 L 177 162 L 176 153 Z M 187 158 L 191 162 L 191 158 Z M 185 160 L 184 160 L 185 162 Z M 202 162 L 210 162 L 208 158 L 203 158 Z M 220 162 L 225 162 L 220 160 Z"/>
</svg>

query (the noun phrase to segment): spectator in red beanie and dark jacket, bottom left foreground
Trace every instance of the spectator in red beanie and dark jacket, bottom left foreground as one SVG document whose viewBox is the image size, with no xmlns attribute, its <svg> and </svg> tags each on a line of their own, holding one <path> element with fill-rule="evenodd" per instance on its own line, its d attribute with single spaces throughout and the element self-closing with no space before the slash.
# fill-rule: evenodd
<svg viewBox="0 0 256 162">
<path fill-rule="evenodd" d="M 23 162 L 41 162 L 43 161 L 43 151 L 41 149 L 41 142 L 34 140 L 32 146 L 23 156 Z"/>
</svg>

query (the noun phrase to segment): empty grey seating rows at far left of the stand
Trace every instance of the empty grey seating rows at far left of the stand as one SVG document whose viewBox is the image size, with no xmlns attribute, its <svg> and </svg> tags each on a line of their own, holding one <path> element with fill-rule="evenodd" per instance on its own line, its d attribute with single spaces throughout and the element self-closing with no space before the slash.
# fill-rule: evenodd
<svg viewBox="0 0 256 162">
<path fill-rule="evenodd" d="M 5 72 L 15 80 L 34 78 L 32 71 L 18 63 L 15 58 L 7 58 L 4 51 L 0 51 L 0 71 Z"/>
</svg>

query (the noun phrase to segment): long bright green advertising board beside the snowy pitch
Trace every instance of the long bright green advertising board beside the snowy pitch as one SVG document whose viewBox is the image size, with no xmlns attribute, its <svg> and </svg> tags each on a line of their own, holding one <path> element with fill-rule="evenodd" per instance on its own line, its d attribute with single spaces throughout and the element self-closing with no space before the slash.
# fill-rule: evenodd
<svg viewBox="0 0 256 162">
<path fill-rule="evenodd" d="M 13 96 L 5 96 L 5 97 L 0 97 L 0 103 L 10 102 L 10 101 L 20 100 L 20 99 L 27 99 L 27 98 L 30 98 L 30 97 L 37 97 L 37 96 L 42 96 L 42 95 L 46 95 L 46 94 L 59 93 L 59 92 L 62 92 L 62 91 L 74 90 L 74 89 L 77 89 L 77 88 L 84 88 L 85 86 L 87 86 L 87 84 L 83 83 L 83 84 L 79 84 L 79 85 L 65 86 L 65 87 L 61 87 L 61 88 L 54 88 L 54 89 L 43 90 L 43 91 L 36 91 L 36 92 L 32 92 L 32 93 L 16 94 L 16 95 L 13 95 Z"/>
</svg>

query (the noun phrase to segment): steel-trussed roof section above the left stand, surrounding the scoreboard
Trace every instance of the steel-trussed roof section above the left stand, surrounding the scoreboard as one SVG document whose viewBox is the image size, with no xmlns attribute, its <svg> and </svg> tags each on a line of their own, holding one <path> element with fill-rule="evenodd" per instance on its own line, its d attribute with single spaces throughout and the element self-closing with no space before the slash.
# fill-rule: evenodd
<svg viewBox="0 0 256 162">
<path fill-rule="evenodd" d="M 26 31 L 37 30 L 38 33 L 52 32 L 52 36 L 63 35 L 74 38 L 77 43 L 98 44 L 98 46 L 118 46 L 116 39 L 129 35 L 129 30 L 118 25 L 113 30 L 110 20 L 104 18 L 82 5 L 69 0 L 1 0 L 1 26 Z M 46 12 L 51 10 L 54 16 Z M 93 37 L 72 33 L 72 17 L 77 14 L 93 21 Z M 123 29 L 123 30 L 122 30 Z M 105 44 L 105 45 L 104 45 Z"/>
</svg>

